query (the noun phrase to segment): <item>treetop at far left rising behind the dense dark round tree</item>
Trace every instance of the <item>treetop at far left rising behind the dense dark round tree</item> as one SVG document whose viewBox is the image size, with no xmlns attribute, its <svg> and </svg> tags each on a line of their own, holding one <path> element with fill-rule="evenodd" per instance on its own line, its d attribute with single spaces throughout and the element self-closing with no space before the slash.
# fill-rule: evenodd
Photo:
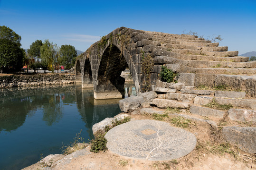
<svg viewBox="0 0 256 170">
<path fill-rule="evenodd" d="M 15 42 L 19 47 L 21 46 L 21 36 L 7 26 L 0 26 L 0 39 L 7 39 L 11 42 Z"/>
</svg>

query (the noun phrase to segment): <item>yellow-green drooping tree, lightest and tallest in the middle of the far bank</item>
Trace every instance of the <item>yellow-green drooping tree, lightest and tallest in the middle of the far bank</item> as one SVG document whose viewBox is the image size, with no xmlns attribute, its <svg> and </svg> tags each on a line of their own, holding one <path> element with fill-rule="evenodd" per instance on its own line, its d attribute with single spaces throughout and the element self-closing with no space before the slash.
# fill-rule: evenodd
<svg viewBox="0 0 256 170">
<path fill-rule="evenodd" d="M 40 47 L 40 55 L 41 55 L 42 61 L 47 63 L 48 67 L 51 68 L 52 71 L 54 71 L 55 70 L 54 64 L 58 56 L 57 44 L 53 44 L 53 42 L 49 42 L 48 39 L 45 40 L 43 45 Z"/>
</svg>

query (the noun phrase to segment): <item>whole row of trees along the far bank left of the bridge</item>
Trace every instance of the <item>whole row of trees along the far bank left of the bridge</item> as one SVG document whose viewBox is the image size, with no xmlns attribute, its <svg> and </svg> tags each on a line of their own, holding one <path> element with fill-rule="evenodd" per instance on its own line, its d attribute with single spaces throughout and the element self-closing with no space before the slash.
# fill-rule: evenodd
<svg viewBox="0 0 256 170">
<path fill-rule="evenodd" d="M 7 26 L 0 26 L 0 71 L 17 72 L 22 66 L 35 70 L 58 70 L 61 65 L 70 69 L 76 62 L 76 49 L 72 45 L 61 45 L 49 40 L 32 42 L 26 52 L 21 46 L 21 36 Z M 34 58 L 41 58 L 42 62 L 34 62 Z"/>
</svg>

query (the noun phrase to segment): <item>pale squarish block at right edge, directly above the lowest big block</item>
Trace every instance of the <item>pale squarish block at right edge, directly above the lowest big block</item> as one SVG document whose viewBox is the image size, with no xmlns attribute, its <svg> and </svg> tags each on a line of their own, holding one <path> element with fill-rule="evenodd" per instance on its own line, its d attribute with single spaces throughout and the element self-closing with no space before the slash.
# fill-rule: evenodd
<svg viewBox="0 0 256 170">
<path fill-rule="evenodd" d="M 256 122 L 256 110 L 247 109 L 229 109 L 228 117 L 231 120 L 254 121 Z"/>
</svg>

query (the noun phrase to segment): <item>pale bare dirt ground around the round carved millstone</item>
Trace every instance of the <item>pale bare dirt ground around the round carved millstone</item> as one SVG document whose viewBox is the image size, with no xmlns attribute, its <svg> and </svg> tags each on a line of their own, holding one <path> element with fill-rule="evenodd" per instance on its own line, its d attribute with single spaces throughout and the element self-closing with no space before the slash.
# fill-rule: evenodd
<svg viewBox="0 0 256 170">
<path fill-rule="evenodd" d="M 153 119 L 149 114 L 130 113 L 134 119 Z M 189 114 L 184 113 L 182 114 Z M 202 117 L 200 117 L 202 119 Z M 211 118 L 207 118 L 211 119 Z M 219 126 L 222 121 L 215 120 Z M 162 121 L 170 122 L 170 118 Z M 226 125 L 237 122 L 227 121 Z M 238 123 L 239 124 L 239 123 Z M 245 153 L 236 146 L 226 147 L 214 142 L 218 133 L 210 129 L 191 123 L 185 128 L 197 137 L 196 148 L 188 155 L 171 161 L 146 161 L 123 157 L 110 151 L 91 153 L 76 157 L 70 163 L 61 167 L 51 167 L 53 170 L 256 170 L 256 155 Z M 213 135 L 215 134 L 215 136 Z M 218 137 L 217 137 L 218 138 Z M 90 146 L 86 149 L 90 149 Z M 38 162 L 24 170 L 41 170 L 43 166 Z"/>
</svg>

